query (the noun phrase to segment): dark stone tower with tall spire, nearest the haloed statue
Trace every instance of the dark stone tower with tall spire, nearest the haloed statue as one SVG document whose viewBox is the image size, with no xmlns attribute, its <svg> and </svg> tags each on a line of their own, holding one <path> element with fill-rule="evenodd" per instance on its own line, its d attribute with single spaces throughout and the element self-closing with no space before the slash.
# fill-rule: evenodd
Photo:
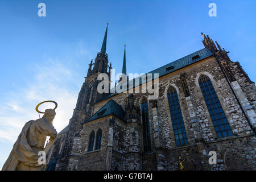
<svg viewBox="0 0 256 182">
<path fill-rule="evenodd" d="M 110 79 L 111 63 L 110 66 L 108 66 L 108 54 L 106 53 L 107 35 L 108 24 L 106 27 L 104 40 L 101 46 L 101 52 L 97 53 L 94 63 L 93 60 L 90 61 L 87 76 L 85 77 L 85 81 L 82 84 L 81 90 L 79 92 L 76 108 L 74 109 L 73 116 L 69 121 L 68 133 L 65 138 L 63 148 L 63 151 L 65 151 L 65 153 L 63 153 L 61 156 L 59 167 L 57 168 L 57 170 L 68 169 L 69 158 L 71 155 L 75 135 L 77 135 L 77 133 L 79 133 L 79 131 L 82 129 L 82 125 L 80 123 L 89 119 L 92 116 L 94 104 L 96 103 L 96 101 L 100 100 L 100 98 L 104 97 L 106 94 L 98 93 L 97 86 L 101 82 L 101 80 L 97 80 L 97 77 L 100 73 L 106 73 Z"/>
</svg>

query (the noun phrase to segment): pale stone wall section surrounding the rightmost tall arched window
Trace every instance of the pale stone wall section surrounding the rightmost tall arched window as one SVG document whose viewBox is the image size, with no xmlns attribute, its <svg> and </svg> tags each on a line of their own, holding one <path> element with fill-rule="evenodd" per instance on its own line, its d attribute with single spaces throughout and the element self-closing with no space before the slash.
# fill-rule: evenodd
<svg viewBox="0 0 256 182">
<path fill-rule="evenodd" d="M 189 72 L 189 69 L 187 69 L 186 72 Z M 210 59 L 191 67 L 191 74 L 187 74 L 191 99 L 195 106 L 197 119 L 199 120 L 200 127 L 203 131 L 205 141 L 216 140 L 217 135 L 198 84 L 198 78 L 201 74 L 207 75 L 212 81 L 214 90 L 220 100 L 222 109 L 225 112 L 233 132 L 237 135 L 251 134 L 250 127 L 242 113 L 241 107 L 238 105 L 232 90 L 229 88 L 228 82 L 225 80 L 217 61 L 214 57 L 211 57 Z"/>
</svg>

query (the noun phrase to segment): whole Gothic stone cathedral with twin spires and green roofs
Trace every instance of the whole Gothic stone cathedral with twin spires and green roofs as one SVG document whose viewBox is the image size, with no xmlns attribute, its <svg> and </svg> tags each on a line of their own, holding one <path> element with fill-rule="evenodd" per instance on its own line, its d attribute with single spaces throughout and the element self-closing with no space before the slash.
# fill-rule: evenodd
<svg viewBox="0 0 256 182">
<path fill-rule="evenodd" d="M 159 74 L 155 100 L 147 92 L 98 93 L 98 75 L 112 69 L 107 34 L 108 26 L 46 170 L 256 169 L 256 88 L 229 52 L 201 33 L 203 49 L 148 72 Z"/>
</svg>

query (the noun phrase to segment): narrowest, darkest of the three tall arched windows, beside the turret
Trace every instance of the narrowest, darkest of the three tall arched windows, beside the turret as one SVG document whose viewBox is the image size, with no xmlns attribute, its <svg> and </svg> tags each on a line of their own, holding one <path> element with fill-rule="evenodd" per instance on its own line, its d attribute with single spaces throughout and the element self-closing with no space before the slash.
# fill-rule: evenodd
<svg viewBox="0 0 256 182">
<path fill-rule="evenodd" d="M 151 151 L 151 139 L 150 139 L 150 123 L 149 123 L 149 118 L 148 118 L 147 100 L 142 101 L 142 127 L 143 127 L 144 152 L 150 152 Z"/>
</svg>

